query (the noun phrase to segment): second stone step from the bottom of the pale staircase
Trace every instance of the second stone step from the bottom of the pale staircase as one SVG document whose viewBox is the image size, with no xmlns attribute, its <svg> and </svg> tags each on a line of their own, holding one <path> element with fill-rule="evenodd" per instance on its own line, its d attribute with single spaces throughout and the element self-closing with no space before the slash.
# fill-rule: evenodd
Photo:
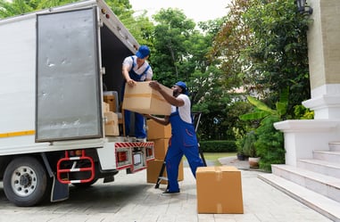
<svg viewBox="0 0 340 222">
<path fill-rule="evenodd" d="M 284 164 L 271 165 L 272 173 L 315 193 L 340 202 L 340 179 Z M 339 210 L 340 212 L 340 210 Z"/>
</svg>

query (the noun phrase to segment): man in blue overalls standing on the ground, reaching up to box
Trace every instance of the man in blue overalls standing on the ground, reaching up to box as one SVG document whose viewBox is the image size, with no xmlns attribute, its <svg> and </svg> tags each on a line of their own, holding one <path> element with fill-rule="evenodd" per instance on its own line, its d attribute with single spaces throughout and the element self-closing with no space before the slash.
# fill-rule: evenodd
<svg viewBox="0 0 340 222">
<path fill-rule="evenodd" d="M 152 115 L 147 116 L 162 125 L 171 124 L 171 138 L 165 157 L 168 187 L 164 193 L 179 193 L 178 166 L 183 154 L 187 157 L 194 177 L 196 177 L 196 169 L 203 167 L 203 160 L 199 156 L 198 141 L 191 117 L 191 102 L 187 95 L 187 85 L 181 81 L 177 82 L 175 86 L 172 86 L 172 95 L 163 91 L 156 81 L 150 82 L 149 86 L 159 91 L 164 99 L 171 104 L 170 116 L 165 116 L 163 119 Z"/>
</svg>

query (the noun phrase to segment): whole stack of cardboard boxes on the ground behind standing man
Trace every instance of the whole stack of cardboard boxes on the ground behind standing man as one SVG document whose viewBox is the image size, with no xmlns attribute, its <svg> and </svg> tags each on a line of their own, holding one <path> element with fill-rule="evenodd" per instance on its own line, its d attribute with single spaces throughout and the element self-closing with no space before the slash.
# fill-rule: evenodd
<svg viewBox="0 0 340 222">
<path fill-rule="evenodd" d="M 154 144 L 154 158 L 155 160 L 149 161 L 146 169 L 146 180 L 147 183 L 157 183 L 157 179 L 160 175 L 162 164 L 165 159 L 166 152 L 168 151 L 169 141 L 171 137 L 171 127 L 163 126 L 155 122 L 152 119 L 146 121 L 147 126 L 147 140 L 153 141 Z M 167 177 L 166 170 L 162 177 Z M 183 180 L 183 160 L 180 162 L 178 167 L 178 181 Z M 162 185 L 168 184 L 166 180 L 161 181 Z"/>
</svg>

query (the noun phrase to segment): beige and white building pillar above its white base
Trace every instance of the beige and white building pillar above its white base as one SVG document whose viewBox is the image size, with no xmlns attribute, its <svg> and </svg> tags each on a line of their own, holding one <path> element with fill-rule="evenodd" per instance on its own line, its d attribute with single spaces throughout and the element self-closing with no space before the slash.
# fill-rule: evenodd
<svg viewBox="0 0 340 222">
<path fill-rule="evenodd" d="M 309 0 L 308 4 L 313 8 L 308 31 L 311 98 L 340 94 L 340 1 Z"/>
</svg>

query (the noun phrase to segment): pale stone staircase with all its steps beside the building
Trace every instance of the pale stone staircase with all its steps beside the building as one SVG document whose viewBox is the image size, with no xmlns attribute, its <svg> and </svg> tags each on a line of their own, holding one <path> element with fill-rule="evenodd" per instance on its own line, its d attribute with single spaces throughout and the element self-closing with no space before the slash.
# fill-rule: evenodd
<svg viewBox="0 0 340 222">
<path fill-rule="evenodd" d="M 340 143 L 329 144 L 329 151 L 314 151 L 312 160 L 299 160 L 296 167 L 271 168 L 271 174 L 261 174 L 259 178 L 340 222 Z"/>
</svg>

